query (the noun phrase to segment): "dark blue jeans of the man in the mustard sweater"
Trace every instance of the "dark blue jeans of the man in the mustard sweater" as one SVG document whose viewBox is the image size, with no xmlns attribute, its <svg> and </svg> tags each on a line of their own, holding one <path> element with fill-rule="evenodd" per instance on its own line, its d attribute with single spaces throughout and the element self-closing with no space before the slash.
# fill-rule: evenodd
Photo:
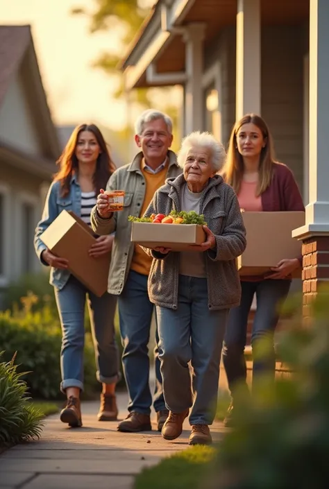
<svg viewBox="0 0 329 489">
<path fill-rule="evenodd" d="M 152 395 L 149 387 L 149 338 L 154 306 L 149 300 L 147 275 L 130 270 L 124 290 L 118 296 L 122 344 L 122 364 L 128 388 L 128 411 L 150 414 Z M 158 350 L 158 328 L 155 332 L 155 411 L 166 409 Z"/>
</svg>

